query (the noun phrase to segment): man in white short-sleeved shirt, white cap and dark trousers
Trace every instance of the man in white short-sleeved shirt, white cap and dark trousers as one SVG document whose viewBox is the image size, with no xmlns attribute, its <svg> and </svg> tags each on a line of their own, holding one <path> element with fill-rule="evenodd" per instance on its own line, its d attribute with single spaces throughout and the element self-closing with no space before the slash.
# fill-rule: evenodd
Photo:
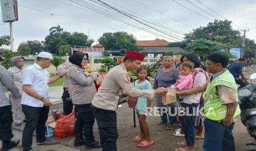
<svg viewBox="0 0 256 151">
<path fill-rule="evenodd" d="M 46 140 L 45 138 L 45 122 L 48 118 L 49 106 L 51 106 L 47 84 L 62 78 L 67 71 L 50 79 L 46 68 L 50 66 L 51 62 L 52 55 L 41 52 L 36 57 L 36 62 L 32 66 L 25 68 L 21 74 L 23 80 L 22 89 L 24 91 L 21 105 L 26 117 L 26 125 L 22 136 L 24 151 L 32 150 L 32 137 L 35 130 L 37 145 L 57 143 L 57 141 Z"/>
</svg>

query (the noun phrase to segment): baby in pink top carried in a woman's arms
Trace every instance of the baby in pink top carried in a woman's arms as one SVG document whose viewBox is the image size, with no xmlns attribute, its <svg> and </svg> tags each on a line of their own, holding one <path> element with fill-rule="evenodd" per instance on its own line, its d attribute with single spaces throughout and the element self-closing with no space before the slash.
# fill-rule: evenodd
<svg viewBox="0 0 256 151">
<path fill-rule="evenodd" d="M 191 89 L 193 86 L 193 63 L 183 62 L 181 65 L 181 75 L 179 75 L 178 80 L 175 83 L 177 91 Z"/>
</svg>

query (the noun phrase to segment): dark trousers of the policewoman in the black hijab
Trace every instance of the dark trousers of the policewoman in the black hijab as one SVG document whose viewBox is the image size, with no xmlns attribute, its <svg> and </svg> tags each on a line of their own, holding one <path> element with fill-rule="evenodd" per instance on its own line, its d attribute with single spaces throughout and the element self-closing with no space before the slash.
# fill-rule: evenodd
<svg viewBox="0 0 256 151">
<path fill-rule="evenodd" d="M 94 142 L 94 112 L 89 104 L 75 104 L 77 120 L 75 121 L 75 141 L 83 140 L 83 132 L 86 143 Z"/>
</svg>

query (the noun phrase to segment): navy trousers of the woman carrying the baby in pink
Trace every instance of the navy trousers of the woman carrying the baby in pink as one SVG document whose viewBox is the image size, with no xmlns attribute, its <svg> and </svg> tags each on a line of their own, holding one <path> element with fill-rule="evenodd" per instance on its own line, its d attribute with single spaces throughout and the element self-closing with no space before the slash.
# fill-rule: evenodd
<svg viewBox="0 0 256 151">
<path fill-rule="evenodd" d="M 197 117 L 197 109 L 199 107 L 199 103 L 187 104 L 181 103 L 181 106 L 185 108 L 186 115 L 184 115 L 181 119 L 182 130 L 185 133 L 185 140 L 187 146 L 194 146 L 195 144 L 195 117 Z M 188 115 L 187 113 L 191 114 Z"/>
</svg>

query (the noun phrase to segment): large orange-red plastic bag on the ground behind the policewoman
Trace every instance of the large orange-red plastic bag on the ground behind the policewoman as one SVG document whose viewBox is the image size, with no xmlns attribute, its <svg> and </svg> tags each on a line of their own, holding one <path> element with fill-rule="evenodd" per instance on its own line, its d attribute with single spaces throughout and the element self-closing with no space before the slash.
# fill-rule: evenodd
<svg viewBox="0 0 256 151">
<path fill-rule="evenodd" d="M 64 138 L 74 134 L 74 126 L 75 126 L 75 111 L 69 115 L 61 115 L 56 122 L 54 135 L 57 138 Z"/>
</svg>

